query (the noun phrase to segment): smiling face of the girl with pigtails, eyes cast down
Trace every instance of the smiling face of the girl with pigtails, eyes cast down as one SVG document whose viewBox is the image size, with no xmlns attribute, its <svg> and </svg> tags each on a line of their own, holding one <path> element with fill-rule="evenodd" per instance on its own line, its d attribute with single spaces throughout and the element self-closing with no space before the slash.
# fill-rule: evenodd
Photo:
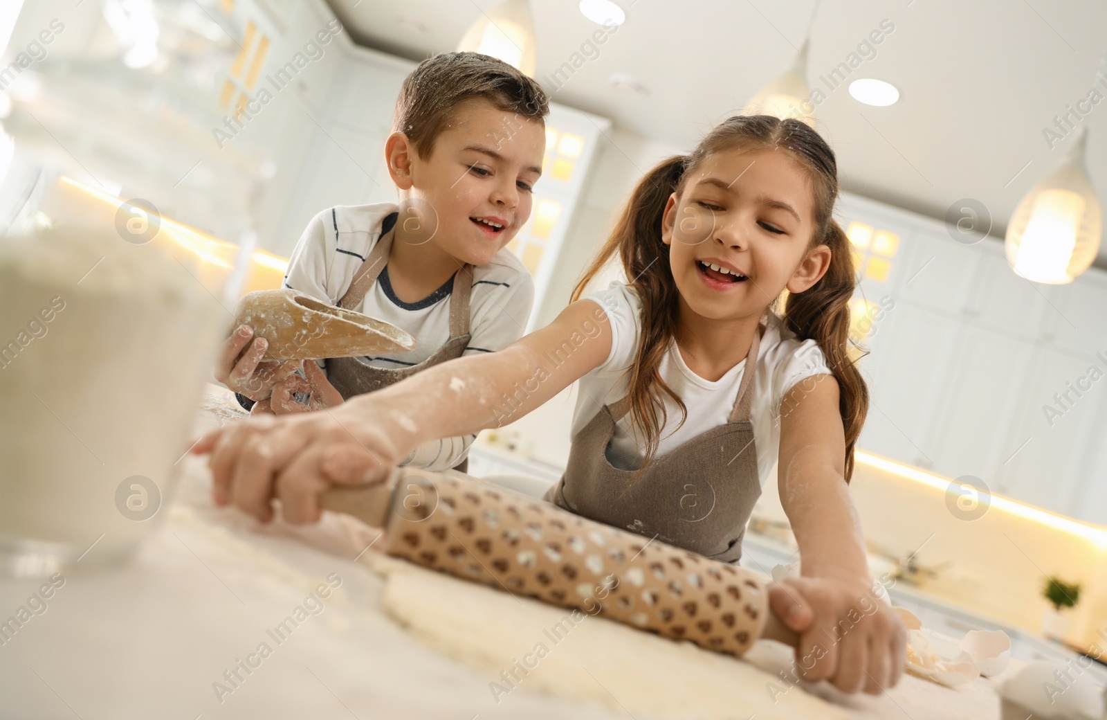
<svg viewBox="0 0 1107 720">
<path fill-rule="evenodd" d="M 665 205 L 662 240 L 684 302 L 712 319 L 761 318 L 787 288 L 801 292 L 830 264 L 815 232 L 806 173 L 784 151 L 716 152 Z M 716 269 L 717 268 L 717 269 Z"/>
</svg>

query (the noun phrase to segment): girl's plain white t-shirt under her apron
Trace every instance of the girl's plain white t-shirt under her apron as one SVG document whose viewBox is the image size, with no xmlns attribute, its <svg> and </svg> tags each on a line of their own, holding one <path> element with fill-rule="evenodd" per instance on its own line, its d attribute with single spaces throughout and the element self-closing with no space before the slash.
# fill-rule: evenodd
<svg viewBox="0 0 1107 720">
<path fill-rule="evenodd" d="M 611 352 L 598 368 L 579 380 L 577 407 L 572 415 L 572 435 L 606 404 L 614 404 L 623 397 L 630 384 L 627 370 L 634 364 L 638 353 L 639 330 L 641 328 L 641 301 L 634 288 L 614 280 L 607 290 L 593 292 L 586 299 L 593 300 L 603 308 L 611 325 Z M 799 340 L 784 327 L 782 319 L 772 310 L 766 311 L 765 335 L 757 351 L 757 374 L 754 377 L 749 420 L 754 429 L 754 444 L 757 448 L 757 472 L 762 486 L 766 480 L 776 477 L 776 462 L 780 446 L 779 408 L 785 393 L 804 378 L 829 374 L 826 358 L 815 340 Z M 738 393 L 746 361 L 743 359 L 726 371 L 718 380 L 705 380 L 689 369 L 681 357 L 676 343 L 661 360 L 661 377 L 684 401 L 687 418 L 679 430 L 673 431 L 681 420 L 681 410 L 672 398 L 662 393 L 666 420 L 661 431 L 658 456 L 679 446 L 712 428 L 726 424 Z M 641 466 L 646 443 L 638 439 L 628 412 L 615 424 L 614 435 L 608 450 L 612 464 L 623 470 Z M 641 449 L 641 450 L 639 450 Z"/>
</svg>

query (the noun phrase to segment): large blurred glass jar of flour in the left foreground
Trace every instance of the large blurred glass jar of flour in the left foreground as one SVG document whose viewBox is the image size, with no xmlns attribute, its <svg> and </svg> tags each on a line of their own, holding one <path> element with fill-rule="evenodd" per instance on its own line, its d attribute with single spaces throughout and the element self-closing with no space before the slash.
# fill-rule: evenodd
<svg viewBox="0 0 1107 720">
<path fill-rule="evenodd" d="M 248 138 L 213 141 L 236 29 L 187 2 L 74 4 L 0 13 L 0 573 L 19 576 L 116 562 L 165 515 L 267 175 Z"/>
</svg>

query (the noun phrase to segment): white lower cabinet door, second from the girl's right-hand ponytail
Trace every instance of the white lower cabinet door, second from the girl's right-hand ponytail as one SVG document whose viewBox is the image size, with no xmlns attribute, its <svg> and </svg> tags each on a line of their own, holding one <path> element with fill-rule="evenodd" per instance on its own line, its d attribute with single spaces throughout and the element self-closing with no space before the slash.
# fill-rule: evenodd
<svg viewBox="0 0 1107 720">
<path fill-rule="evenodd" d="M 948 381 L 935 390 L 939 410 L 929 426 L 934 470 L 954 479 L 973 475 L 992 487 L 1033 346 L 1006 333 L 963 327 Z"/>
</svg>

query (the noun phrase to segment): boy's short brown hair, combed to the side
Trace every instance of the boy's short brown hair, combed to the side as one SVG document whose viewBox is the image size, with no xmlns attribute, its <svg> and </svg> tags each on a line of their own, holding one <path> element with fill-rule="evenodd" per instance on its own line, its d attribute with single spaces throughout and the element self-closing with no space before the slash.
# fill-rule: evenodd
<svg viewBox="0 0 1107 720">
<path fill-rule="evenodd" d="M 404 79 L 392 130 L 406 135 L 420 157 L 428 157 L 453 112 L 474 97 L 538 122 L 549 114 L 546 91 L 503 60 L 477 52 L 444 52 L 421 62 Z"/>
</svg>

